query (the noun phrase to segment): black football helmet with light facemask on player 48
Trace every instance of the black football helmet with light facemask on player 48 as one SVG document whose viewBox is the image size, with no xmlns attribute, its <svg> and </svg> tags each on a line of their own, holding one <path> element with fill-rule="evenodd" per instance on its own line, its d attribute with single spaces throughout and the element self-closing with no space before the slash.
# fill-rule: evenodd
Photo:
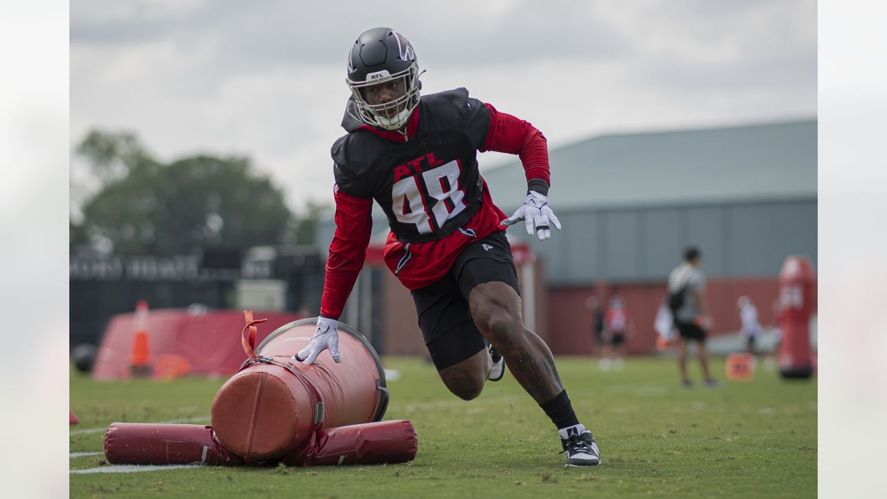
<svg viewBox="0 0 887 499">
<path fill-rule="evenodd" d="M 396 78 L 404 79 L 406 93 L 399 99 L 378 105 L 366 102 L 363 89 Z M 419 104 L 419 61 L 412 44 L 391 28 L 373 28 L 355 40 L 348 54 L 348 77 L 345 79 L 354 94 L 359 118 L 385 130 L 399 130 L 409 121 Z M 394 117 L 388 117 L 390 110 Z"/>
</svg>

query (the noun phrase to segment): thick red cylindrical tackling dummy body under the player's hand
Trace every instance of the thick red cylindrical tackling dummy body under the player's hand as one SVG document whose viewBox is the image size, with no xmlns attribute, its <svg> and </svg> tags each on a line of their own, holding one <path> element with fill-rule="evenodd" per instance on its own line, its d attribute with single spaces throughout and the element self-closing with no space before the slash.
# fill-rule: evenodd
<svg viewBox="0 0 887 499">
<path fill-rule="evenodd" d="M 325 352 L 306 366 L 290 358 L 308 345 L 316 319 L 283 326 L 252 352 L 255 323 L 247 314 L 249 359 L 213 400 L 213 429 L 225 448 L 248 462 L 279 461 L 316 430 L 381 419 L 388 406 L 385 370 L 363 335 L 340 326 L 341 363 Z"/>
</svg>

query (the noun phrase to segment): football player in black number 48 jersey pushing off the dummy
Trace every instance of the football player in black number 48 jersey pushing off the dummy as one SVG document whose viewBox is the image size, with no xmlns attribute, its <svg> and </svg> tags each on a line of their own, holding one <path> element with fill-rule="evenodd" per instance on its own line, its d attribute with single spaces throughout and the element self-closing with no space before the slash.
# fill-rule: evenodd
<svg viewBox="0 0 887 499">
<path fill-rule="evenodd" d="M 511 372 L 557 427 L 568 466 L 596 465 L 592 432 L 579 424 L 552 353 L 523 325 L 506 226 L 540 241 L 561 223 L 548 204 L 546 138 L 459 88 L 422 95 L 412 44 L 390 28 L 357 37 L 348 56 L 351 97 L 332 148 L 335 234 L 318 327 L 294 357 L 336 362 L 338 318 L 364 264 L 373 200 L 388 217 L 384 259 L 412 292 L 419 325 L 447 388 L 463 400 Z M 508 217 L 493 204 L 478 151 L 518 154 L 527 196 Z"/>
</svg>

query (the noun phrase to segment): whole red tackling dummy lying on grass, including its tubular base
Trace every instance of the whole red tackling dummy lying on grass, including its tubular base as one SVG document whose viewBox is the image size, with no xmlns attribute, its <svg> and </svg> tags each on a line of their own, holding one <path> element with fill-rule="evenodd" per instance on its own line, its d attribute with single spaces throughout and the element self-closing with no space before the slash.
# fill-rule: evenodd
<svg viewBox="0 0 887 499">
<path fill-rule="evenodd" d="M 249 357 L 216 394 L 213 426 L 114 423 L 105 435 L 109 463 L 315 466 L 404 463 L 418 449 L 409 421 L 373 423 L 388 406 L 384 369 L 365 337 L 341 324 L 336 364 L 289 358 L 308 345 L 317 319 L 291 322 L 255 348 L 246 313 Z"/>
</svg>

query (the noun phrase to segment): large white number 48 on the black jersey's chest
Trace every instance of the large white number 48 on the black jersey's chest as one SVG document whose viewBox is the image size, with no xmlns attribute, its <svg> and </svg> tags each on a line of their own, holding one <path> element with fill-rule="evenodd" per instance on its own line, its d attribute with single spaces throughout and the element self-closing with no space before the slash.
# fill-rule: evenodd
<svg viewBox="0 0 887 499">
<path fill-rule="evenodd" d="M 397 221 L 414 224 L 419 234 L 428 234 L 434 229 L 430 223 L 428 205 L 422 199 L 419 178 L 418 175 L 414 175 L 395 183 L 391 190 L 391 210 Z M 428 189 L 428 195 L 436 200 L 431 213 L 438 227 L 465 210 L 465 192 L 459 189 L 459 162 L 453 160 L 431 170 L 425 170 L 421 178 Z M 452 203 L 452 211 L 447 206 L 446 200 Z"/>
</svg>

